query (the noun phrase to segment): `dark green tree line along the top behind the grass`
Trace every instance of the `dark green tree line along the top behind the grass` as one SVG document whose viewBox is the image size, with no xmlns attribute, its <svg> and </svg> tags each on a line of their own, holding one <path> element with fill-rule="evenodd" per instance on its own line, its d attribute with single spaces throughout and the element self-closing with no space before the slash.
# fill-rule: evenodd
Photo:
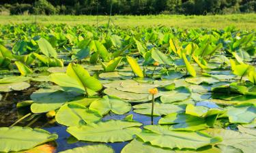
<svg viewBox="0 0 256 153">
<path fill-rule="evenodd" d="M 256 12 L 255 0 L 1 0 L 10 14 L 233 14 Z"/>
</svg>

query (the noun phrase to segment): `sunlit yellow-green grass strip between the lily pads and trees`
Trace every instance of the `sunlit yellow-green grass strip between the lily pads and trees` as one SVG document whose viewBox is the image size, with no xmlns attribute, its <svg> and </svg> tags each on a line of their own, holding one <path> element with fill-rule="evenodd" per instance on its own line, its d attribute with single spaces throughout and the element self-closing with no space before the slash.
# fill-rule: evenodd
<svg viewBox="0 0 256 153">
<path fill-rule="evenodd" d="M 37 16 L 39 24 L 59 24 L 69 25 L 107 24 L 109 16 Z M 20 24 L 35 22 L 35 16 L 0 16 L 0 24 Z M 223 29 L 229 25 L 239 29 L 256 29 L 256 14 L 232 14 L 216 16 L 182 16 L 182 15 L 158 15 L 158 16 L 111 16 L 111 24 L 120 27 L 152 27 L 165 25 L 169 27 L 181 28 L 216 28 Z"/>
</svg>

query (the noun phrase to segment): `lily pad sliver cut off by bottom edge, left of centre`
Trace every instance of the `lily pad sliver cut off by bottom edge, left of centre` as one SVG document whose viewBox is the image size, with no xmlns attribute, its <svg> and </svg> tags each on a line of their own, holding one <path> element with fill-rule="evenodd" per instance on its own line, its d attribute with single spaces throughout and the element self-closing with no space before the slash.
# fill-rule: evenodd
<svg viewBox="0 0 256 153">
<path fill-rule="evenodd" d="M 63 152 L 59 153 L 115 153 L 115 151 L 106 145 L 99 144 L 99 145 L 94 145 L 94 146 L 83 146 L 83 147 L 78 147 L 74 148 L 71 150 L 65 150 Z"/>
</svg>

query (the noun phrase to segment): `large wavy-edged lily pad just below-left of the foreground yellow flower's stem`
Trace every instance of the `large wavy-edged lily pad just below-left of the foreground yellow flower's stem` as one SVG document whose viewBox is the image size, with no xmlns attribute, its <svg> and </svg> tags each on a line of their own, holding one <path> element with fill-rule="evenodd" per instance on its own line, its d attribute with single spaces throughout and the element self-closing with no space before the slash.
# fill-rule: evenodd
<svg viewBox="0 0 256 153">
<path fill-rule="evenodd" d="M 72 126 L 68 133 L 82 141 L 122 142 L 133 139 L 141 132 L 142 124 L 134 121 L 108 120 L 106 122 L 90 123 L 85 126 Z"/>
</svg>

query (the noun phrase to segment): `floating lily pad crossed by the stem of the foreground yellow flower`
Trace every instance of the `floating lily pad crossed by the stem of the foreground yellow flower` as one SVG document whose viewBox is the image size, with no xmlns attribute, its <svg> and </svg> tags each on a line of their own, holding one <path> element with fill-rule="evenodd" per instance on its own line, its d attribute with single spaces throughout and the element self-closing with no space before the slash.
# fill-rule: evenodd
<svg viewBox="0 0 256 153">
<path fill-rule="evenodd" d="M 151 115 L 152 103 L 134 105 L 134 112 L 144 115 Z M 184 107 L 171 103 L 154 103 L 154 116 L 162 116 L 176 112 L 184 112 Z"/>
</svg>

